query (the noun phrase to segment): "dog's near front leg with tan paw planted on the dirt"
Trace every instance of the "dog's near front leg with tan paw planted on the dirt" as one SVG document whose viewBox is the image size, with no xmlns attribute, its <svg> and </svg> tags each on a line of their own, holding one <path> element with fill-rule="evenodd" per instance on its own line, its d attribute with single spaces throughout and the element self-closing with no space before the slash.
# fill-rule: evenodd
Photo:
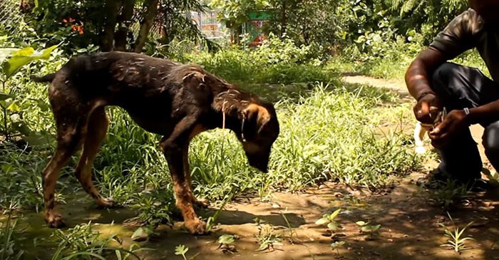
<svg viewBox="0 0 499 260">
<path fill-rule="evenodd" d="M 163 147 L 163 153 L 168 161 L 175 199 L 177 200 L 176 204 L 184 217 L 185 228 L 192 234 L 205 234 L 206 223 L 202 222 L 194 212 L 192 207 L 194 198 L 184 174 L 184 156 L 186 153 L 183 150 L 188 145 L 188 138 L 194 123 L 195 118 L 184 118 L 177 124 L 170 137 L 163 137 L 160 145 Z"/>
</svg>

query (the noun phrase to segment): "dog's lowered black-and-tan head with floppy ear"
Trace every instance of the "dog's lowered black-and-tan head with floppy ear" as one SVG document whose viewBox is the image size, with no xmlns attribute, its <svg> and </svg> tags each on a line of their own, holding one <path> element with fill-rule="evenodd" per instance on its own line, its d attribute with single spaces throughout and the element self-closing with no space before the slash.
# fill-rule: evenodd
<svg viewBox="0 0 499 260">
<path fill-rule="evenodd" d="M 270 103 L 251 103 L 242 110 L 242 142 L 249 165 L 268 172 L 272 144 L 279 135 L 279 121 Z"/>
</svg>

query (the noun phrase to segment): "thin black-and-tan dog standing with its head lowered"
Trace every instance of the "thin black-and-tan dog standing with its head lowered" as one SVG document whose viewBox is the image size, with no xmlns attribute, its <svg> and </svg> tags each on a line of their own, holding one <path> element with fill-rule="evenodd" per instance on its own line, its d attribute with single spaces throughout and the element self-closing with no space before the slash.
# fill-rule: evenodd
<svg viewBox="0 0 499 260">
<path fill-rule="evenodd" d="M 200 66 L 137 53 L 97 53 L 73 57 L 56 73 L 34 80 L 51 82 L 48 97 L 56 120 L 56 152 L 43 170 L 49 227 L 63 226 L 53 192 L 61 168 L 82 146 L 76 177 L 98 205 L 113 207 L 91 181 L 92 162 L 108 128 L 106 105 L 125 109 L 140 127 L 163 135 L 160 147 L 168 161 L 176 204 L 192 234 L 205 233 L 205 222 L 192 207 L 197 203 L 187 157 L 192 137 L 222 126 L 230 129 L 242 142 L 249 165 L 267 172 L 270 150 L 279 135 L 271 103 Z"/>
</svg>

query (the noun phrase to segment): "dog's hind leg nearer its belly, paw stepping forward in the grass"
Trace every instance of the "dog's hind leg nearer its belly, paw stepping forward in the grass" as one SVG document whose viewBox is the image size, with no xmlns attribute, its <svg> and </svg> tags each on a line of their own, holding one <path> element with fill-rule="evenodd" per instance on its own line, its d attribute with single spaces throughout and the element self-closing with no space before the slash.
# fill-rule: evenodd
<svg viewBox="0 0 499 260">
<path fill-rule="evenodd" d="M 75 169 L 76 178 L 80 181 L 83 189 L 90 194 L 101 207 L 113 207 L 112 199 L 105 199 L 99 194 L 92 183 L 92 164 L 96 157 L 101 142 L 106 137 L 109 120 L 106 117 L 104 107 L 93 110 L 88 118 L 87 134 L 83 142 L 83 152 Z"/>
</svg>

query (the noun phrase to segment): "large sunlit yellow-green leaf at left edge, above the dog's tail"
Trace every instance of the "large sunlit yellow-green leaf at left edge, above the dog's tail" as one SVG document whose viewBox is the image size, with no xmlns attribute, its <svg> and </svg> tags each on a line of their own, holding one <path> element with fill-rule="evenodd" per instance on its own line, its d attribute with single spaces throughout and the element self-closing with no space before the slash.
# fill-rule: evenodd
<svg viewBox="0 0 499 260">
<path fill-rule="evenodd" d="M 31 61 L 50 58 L 50 54 L 55 48 L 57 48 L 57 45 L 51 46 L 42 51 L 34 51 L 34 48 L 31 47 L 16 51 L 12 53 L 12 57 L 9 58 L 9 60 L 2 64 L 2 71 L 7 78 L 10 78 L 17 71 L 19 71 L 20 68 Z"/>
</svg>

